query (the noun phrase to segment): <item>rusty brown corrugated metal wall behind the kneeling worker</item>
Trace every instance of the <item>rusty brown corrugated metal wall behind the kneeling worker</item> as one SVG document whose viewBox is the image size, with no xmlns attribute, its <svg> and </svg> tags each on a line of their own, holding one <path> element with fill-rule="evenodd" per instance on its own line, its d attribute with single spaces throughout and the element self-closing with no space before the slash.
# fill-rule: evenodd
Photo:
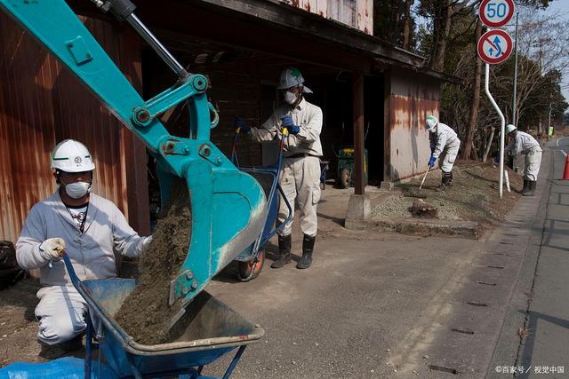
<svg viewBox="0 0 569 379">
<path fill-rule="evenodd" d="M 140 63 L 138 44 L 126 42 L 106 21 L 87 19 L 85 25 L 111 57 L 121 51 L 126 63 L 117 64 L 140 81 L 140 64 L 132 63 Z M 67 69 L 0 12 L 0 240 L 16 241 L 29 209 L 55 190 L 49 154 L 65 138 L 90 149 L 97 167 L 93 191 L 128 215 L 124 146 L 132 141 L 123 129 Z"/>
</svg>

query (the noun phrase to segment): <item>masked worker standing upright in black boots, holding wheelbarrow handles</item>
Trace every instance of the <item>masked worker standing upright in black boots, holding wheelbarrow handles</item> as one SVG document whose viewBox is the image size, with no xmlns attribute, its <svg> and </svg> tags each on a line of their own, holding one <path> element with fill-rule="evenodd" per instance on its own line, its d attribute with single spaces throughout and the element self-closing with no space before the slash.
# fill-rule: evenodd
<svg viewBox="0 0 569 379">
<path fill-rule="evenodd" d="M 312 93 L 304 84 L 301 72 L 296 68 L 286 68 L 277 89 L 284 104 L 260 128 L 252 128 L 243 119 L 236 119 L 236 128 L 248 132 L 258 141 L 270 141 L 281 138 L 284 129 L 288 135 L 284 138 L 283 171 L 279 178 L 287 201 L 293 209 L 300 210 L 302 257 L 299 269 L 306 269 L 312 264 L 312 252 L 317 237 L 317 204 L 320 200 L 320 157 L 322 144 L 322 110 L 304 99 L 305 93 Z M 288 216 L 288 208 L 281 198 L 278 209 L 278 222 L 283 223 Z M 293 220 L 289 221 L 278 233 L 278 258 L 271 265 L 280 268 L 291 262 Z"/>
</svg>

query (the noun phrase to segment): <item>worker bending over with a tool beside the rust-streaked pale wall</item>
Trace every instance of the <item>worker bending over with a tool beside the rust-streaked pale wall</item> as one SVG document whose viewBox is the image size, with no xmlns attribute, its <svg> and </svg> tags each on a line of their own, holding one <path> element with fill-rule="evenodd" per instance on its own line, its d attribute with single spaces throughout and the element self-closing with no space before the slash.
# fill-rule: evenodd
<svg viewBox="0 0 569 379">
<path fill-rule="evenodd" d="M 430 132 L 429 168 L 435 166 L 438 158 L 438 168 L 443 171 L 443 178 L 437 191 L 445 191 L 449 186 L 453 186 L 453 165 L 456 155 L 459 154 L 461 140 L 450 126 L 438 122 L 437 117 L 433 115 L 427 116 L 427 130 Z"/>
</svg>

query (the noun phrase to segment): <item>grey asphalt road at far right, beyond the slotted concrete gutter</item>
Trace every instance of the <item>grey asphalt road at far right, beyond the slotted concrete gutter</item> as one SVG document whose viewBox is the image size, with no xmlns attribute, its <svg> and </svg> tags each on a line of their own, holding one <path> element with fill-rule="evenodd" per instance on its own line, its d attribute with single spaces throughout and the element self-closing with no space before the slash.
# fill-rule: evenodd
<svg viewBox="0 0 569 379">
<path fill-rule="evenodd" d="M 549 152 L 533 244 L 487 377 L 511 377 L 512 367 L 517 377 L 569 377 L 569 181 L 559 180 L 569 138 L 550 143 Z"/>
</svg>

